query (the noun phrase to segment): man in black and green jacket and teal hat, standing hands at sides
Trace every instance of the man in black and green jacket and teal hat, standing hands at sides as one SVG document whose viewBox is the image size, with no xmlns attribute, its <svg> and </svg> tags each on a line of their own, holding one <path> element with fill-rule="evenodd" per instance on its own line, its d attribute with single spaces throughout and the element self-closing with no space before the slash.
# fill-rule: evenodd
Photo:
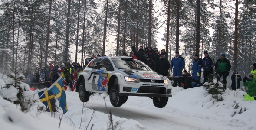
<svg viewBox="0 0 256 130">
<path fill-rule="evenodd" d="M 216 61 L 216 64 L 215 64 L 215 72 L 216 72 L 217 80 L 220 80 L 222 76 L 223 87 L 226 87 L 226 83 L 227 83 L 226 77 L 229 75 L 230 69 L 231 69 L 230 61 L 225 56 L 226 55 L 222 53 L 220 58 Z"/>
</svg>

